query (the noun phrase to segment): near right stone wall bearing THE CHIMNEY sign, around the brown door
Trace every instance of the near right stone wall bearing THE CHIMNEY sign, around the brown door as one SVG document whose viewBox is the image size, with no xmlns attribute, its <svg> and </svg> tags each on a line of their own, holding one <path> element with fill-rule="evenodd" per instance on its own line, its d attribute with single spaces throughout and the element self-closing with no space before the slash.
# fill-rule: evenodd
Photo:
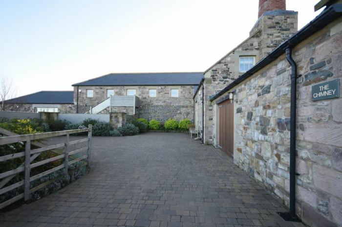
<svg viewBox="0 0 342 227">
<path fill-rule="evenodd" d="M 342 78 L 341 43 L 342 19 L 338 19 L 293 52 L 302 75 L 297 91 L 297 212 L 304 223 L 315 227 L 342 226 L 342 97 L 311 100 L 312 85 Z M 282 55 L 227 92 L 234 92 L 237 99 L 234 163 L 287 206 L 290 72 Z M 217 145 L 217 105 L 213 105 Z"/>
</svg>

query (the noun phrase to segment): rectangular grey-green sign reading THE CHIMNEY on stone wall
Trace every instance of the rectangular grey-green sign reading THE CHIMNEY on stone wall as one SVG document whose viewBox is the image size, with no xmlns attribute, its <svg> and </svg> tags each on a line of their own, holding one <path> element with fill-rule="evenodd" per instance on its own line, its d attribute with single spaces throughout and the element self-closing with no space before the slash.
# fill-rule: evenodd
<svg viewBox="0 0 342 227">
<path fill-rule="evenodd" d="M 312 101 L 340 97 L 340 79 L 334 79 L 311 87 Z"/>
</svg>

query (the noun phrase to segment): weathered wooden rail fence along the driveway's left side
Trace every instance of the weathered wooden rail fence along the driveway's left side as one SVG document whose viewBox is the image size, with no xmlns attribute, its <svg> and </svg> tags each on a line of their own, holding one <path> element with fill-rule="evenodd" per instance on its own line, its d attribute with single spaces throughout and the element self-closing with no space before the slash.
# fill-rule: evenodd
<svg viewBox="0 0 342 227">
<path fill-rule="evenodd" d="M 38 186 L 35 186 L 34 188 L 31 188 L 31 182 L 34 180 L 37 180 L 43 176 L 46 176 L 50 173 L 53 173 L 57 170 L 64 169 L 65 173 L 68 173 L 69 165 L 75 164 L 77 162 L 80 162 L 81 160 L 86 160 L 86 165 L 89 165 L 90 163 L 90 150 L 91 150 L 91 131 L 92 126 L 89 125 L 88 128 L 85 129 L 75 129 L 75 130 L 65 130 L 65 131 L 58 131 L 58 132 L 43 132 L 43 133 L 35 133 L 35 134 L 25 134 L 25 135 L 13 135 L 13 136 L 2 136 L 0 137 L 0 145 L 6 145 L 6 144 L 13 144 L 18 142 L 24 142 L 25 143 L 25 151 L 23 152 L 17 152 L 13 154 L 3 155 L 0 156 L 0 165 L 1 162 L 19 158 L 19 157 L 25 157 L 24 163 L 22 163 L 18 168 L 14 170 L 8 170 L 6 172 L 0 173 L 0 195 L 16 189 L 18 187 L 24 186 L 24 192 L 14 196 L 11 199 L 8 199 L 7 201 L 4 201 L 0 204 L 0 209 L 4 208 L 22 198 L 24 198 L 24 201 L 29 200 L 30 193 L 37 191 L 38 189 L 41 189 L 48 184 L 52 183 L 53 180 L 49 180 L 47 182 L 44 182 Z M 80 132 L 88 132 L 87 138 L 79 139 L 75 141 L 69 141 L 70 134 L 74 133 L 80 133 Z M 31 150 L 31 144 L 37 144 L 37 140 L 56 137 L 56 136 L 65 136 L 65 143 L 45 146 L 42 148 L 37 148 Z M 76 149 L 74 151 L 70 151 L 71 145 L 79 145 L 82 143 L 87 142 L 87 145 L 83 148 Z M 76 146 L 75 146 L 76 147 Z M 43 161 L 31 163 L 35 158 L 37 158 L 43 151 L 50 151 L 53 149 L 64 149 L 64 153 L 59 154 L 57 156 L 45 159 Z M 75 155 L 77 153 L 80 153 L 82 151 L 87 151 L 85 155 L 79 157 L 79 158 L 73 158 L 71 161 L 68 160 L 69 155 Z M 44 164 L 64 159 L 63 164 L 57 167 L 54 167 L 50 170 L 46 170 L 44 172 L 41 172 L 39 174 L 36 174 L 34 176 L 30 176 L 30 170 L 32 168 L 42 166 Z M 3 188 L 16 174 L 19 174 L 24 171 L 24 180 L 21 180 L 19 182 L 16 182 L 12 185 L 9 185 L 5 188 Z"/>
</svg>

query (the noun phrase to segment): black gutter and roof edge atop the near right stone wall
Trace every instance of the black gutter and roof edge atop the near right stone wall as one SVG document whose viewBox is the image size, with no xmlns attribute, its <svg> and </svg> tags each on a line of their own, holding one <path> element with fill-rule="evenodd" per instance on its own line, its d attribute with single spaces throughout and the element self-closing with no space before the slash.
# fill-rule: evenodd
<svg viewBox="0 0 342 227">
<path fill-rule="evenodd" d="M 305 25 L 302 29 L 296 32 L 292 37 L 282 42 L 270 54 L 268 54 L 266 57 L 262 58 L 259 62 L 257 62 L 253 68 L 251 68 L 242 76 L 235 79 L 231 84 L 229 84 L 219 93 L 214 95 L 214 97 L 212 97 L 210 101 L 214 101 L 216 98 L 228 92 L 229 90 L 234 88 L 236 85 L 238 85 L 239 83 L 241 83 L 248 77 L 254 75 L 257 71 L 264 68 L 265 66 L 270 64 L 272 61 L 280 57 L 282 54 L 284 54 L 284 50 L 287 47 L 291 46 L 292 48 L 294 48 L 301 41 L 305 40 L 306 38 L 310 37 L 317 31 L 321 30 L 328 23 L 334 21 L 341 15 L 342 15 L 342 4 L 334 4 L 330 6 L 329 8 L 325 9 L 324 11 L 321 12 L 320 15 L 318 15 L 315 19 L 311 20 L 307 25 Z"/>
</svg>

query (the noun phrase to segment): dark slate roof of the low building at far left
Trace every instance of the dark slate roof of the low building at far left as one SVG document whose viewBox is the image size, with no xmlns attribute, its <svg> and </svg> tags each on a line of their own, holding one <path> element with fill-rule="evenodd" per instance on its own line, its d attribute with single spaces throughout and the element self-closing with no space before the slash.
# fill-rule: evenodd
<svg viewBox="0 0 342 227">
<path fill-rule="evenodd" d="M 8 99 L 5 103 L 27 104 L 70 104 L 74 103 L 73 91 L 41 91 L 17 98 Z"/>
</svg>

